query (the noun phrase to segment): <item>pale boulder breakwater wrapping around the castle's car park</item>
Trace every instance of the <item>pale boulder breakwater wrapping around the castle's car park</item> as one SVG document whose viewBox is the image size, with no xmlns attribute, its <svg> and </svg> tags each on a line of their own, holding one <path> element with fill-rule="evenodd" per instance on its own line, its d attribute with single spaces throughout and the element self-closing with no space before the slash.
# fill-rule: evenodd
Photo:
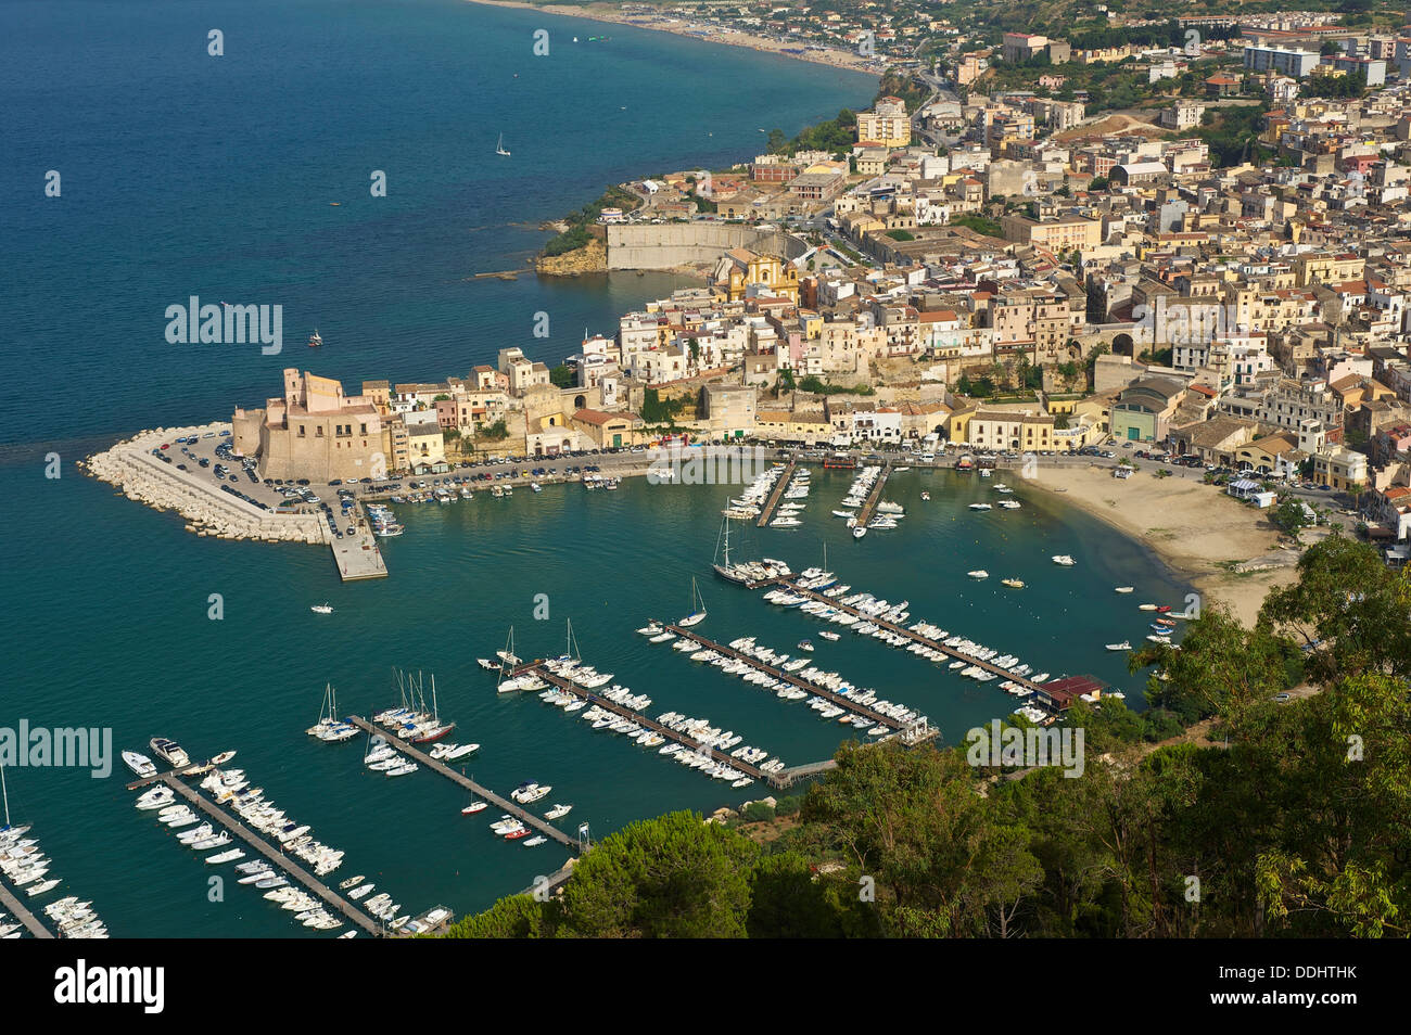
<svg viewBox="0 0 1411 1035">
<path fill-rule="evenodd" d="M 216 539 L 257 539 L 265 543 L 325 543 L 317 515 L 282 515 L 260 510 L 222 492 L 209 477 L 178 471 L 152 455 L 154 448 L 178 437 L 220 433 L 230 424 L 157 427 L 138 431 L 103 453 L 79 461 L 85 474 L 121 489 L 128 499 L 155 510 L 175 510 L 186 519 L 186 532 Z"/>
</svg>

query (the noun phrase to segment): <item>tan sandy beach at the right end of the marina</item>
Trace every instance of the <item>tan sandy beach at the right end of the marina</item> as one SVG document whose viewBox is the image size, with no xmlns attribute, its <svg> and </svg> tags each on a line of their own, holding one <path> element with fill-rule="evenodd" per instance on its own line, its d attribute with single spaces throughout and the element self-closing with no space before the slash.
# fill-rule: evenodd
<svg viewBox="0 0 1411 1035">
<path fill-rule="evenodd" d="M 1230 608 L 1253 626 L 1264 595 L 1294 581 L 1298 554 L 1280 547 L 1267 515 L 1218 486 L 1139 471 L 1113 478 L 1109 467 L 1040 468 L 1027 486 L 1061 498 L 1151 547 L 1189 578 L 1206 602 Z"/>
</svg>

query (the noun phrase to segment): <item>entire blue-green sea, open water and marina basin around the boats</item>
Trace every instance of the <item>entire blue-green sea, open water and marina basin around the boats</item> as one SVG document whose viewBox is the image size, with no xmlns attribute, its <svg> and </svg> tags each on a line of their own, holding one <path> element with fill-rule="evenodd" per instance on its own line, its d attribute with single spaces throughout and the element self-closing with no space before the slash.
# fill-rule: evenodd
<svg viewBox="0 0 1411 1035">
<path fill-rule="evenodd" d="M 495 812 L 463 816 L 466 794 L 433 773 L 365 771 L 360 740 L 306 736 L 326 685 L 367 715 L 395 704 L 398 673 L 428 694 L 435 677 L 454 740 L 481 745 L 466 774 L 501 792 L 552 784 L 538 808 L 571 804 L 560 825 L 594 840 L 768 791 L 731 790 L 535 695 L 497 695 L 476 657 L 511 627 L 521 656 L 555 656 L 571 620 L 583 657 L 649 694 L 653 714 L 710 718 L 790 766 L 828 757 L 844 728 L 635 633 L 687 613 L 693 580 L 698 632 L 790 654 L 809 637 L 820 664 L 927 715 L 941 743 L 1013 708 L 998 684 L 847 632 L 830 643 L 813 619 L 714 578 L 720 509 L 739 486 L 629 479 L 409 506 L 405 534 L 384 543 L 391 578 L 343 585 L 322 549 L 200 539 L 75 467 L 138 429 L 261 405 L 286 365 L 357 391 L 463 376 L 509 345 L 556 362 L 691 281 L 476 274 L 522 268 L 545 220 L 608 183 L 748 159 L 762 130 L 866 106 L 873 79 L 457 0 L 3 0 L 0 28 L 0 728 L 111 730 L 114 754 L 152 736 L 196 759 L 237 750 L 254 785 L 346 852 L 330 880 L 365 874 L 402 912 L 466 914 L 566 850 L 492 836 Z M 281 306 L 282 353 L 168 343 L 168 306 L 192 296 Z M 326 345 L 310 353 L 315 329 Z M 1136 642 L 1146 620 L 1112 589 L 1177 609 L 1187 591 L 1143 546 L 1022 484 L 1023 509 L 972 512 L 989 484 L 920 471 L 889 485 L 900 527 L 855 541 L 828 513 L 851 475 L 813 481 L 799 529 L 738 532 L 732 551 L 796 567 L 827 551 L 842 581 L 910 601 L 914 618 L 1036 670 L 1091 673 L 1141 706 L 1140 680 L 1103 644 Z M 1057 553 L 1077 564 L 1054 565 Z M 333 615 L 309 611 L 325 601 Z M 120 761 L 106 778 L 7 767 L 11 821 L 34 825 L 63 878 L 55 894 L 92 900 L 114 936 L 310 936 L 135 811 L 127 778 Z"/>
</svg>

